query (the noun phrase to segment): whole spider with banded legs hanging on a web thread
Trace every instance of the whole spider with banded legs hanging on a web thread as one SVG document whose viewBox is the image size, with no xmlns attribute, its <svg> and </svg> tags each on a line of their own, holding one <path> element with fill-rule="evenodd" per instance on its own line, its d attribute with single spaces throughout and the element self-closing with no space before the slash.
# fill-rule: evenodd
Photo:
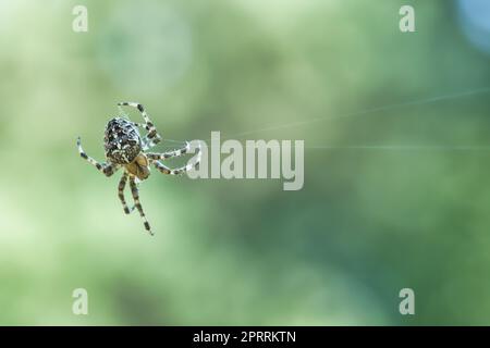
<svg viewBox="0 0 490 348">
<path fill-rule="evenodd" d="M 87 156 L 82 148 L 79 137 L 76 140 L 76 145 L 78 147 L 79 156 L 108 177 L 114 174 L 119 169 L 124 167 L 124 173 L 118 186 L 118 196 L 123 206 L 124 213 L 130 214 L 134 208 L 136 208 L 143 219 L 145 229 L 148 231 L 150 235 L 154 235 L 145 212 L 143 211 L 142 203 L 139 202 L 137 184 L 140 181 L 148 178 L 150 175 L 150 164 L 154 164 L 161 173 L 170 175 L 180 175 L 193 167 L 197 167 L 200 161 L 200 146 L 197 147 L 197 156 L 193 163 L 173 170 L 163 165 L 160 160 L 187 153 L 191 149 L 189 142 L 185 141 L 185 147 L 163 153 L 145 152 L 157 145 L 161 140 L 161 136 L 158 134 L 157 128 L 140 103 L 118 103 L 118 107 L 120 108 L 123 105 L 136 108 L 145 120 L 145 123 L 135 123 L 125 117 L 113 117 L 108 122 L 103 137 L 107 162 L 99 163 Z M 145 137 L 142 138 L 138 127 L 147 130 Z M 126 187 L 127 181 L 130 181 L 131 192 L 134 200 L 134 207 L 132 209 L 127 207 L 124 198 L 124 188 Z"/>
</svg>

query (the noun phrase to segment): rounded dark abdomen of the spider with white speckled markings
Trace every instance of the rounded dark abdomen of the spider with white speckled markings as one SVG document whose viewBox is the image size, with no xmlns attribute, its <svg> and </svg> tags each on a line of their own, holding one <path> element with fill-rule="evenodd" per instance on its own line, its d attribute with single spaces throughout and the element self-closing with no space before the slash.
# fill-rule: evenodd
<svg viewBox="0 0 490 348">
<path fill-rule="evenodd" d="M 128 164 L 142 152 L 142 137 L 128 120 L 114 117 L 107 124 L 103 137 L 106 157 L 114 164 Z"/>
</svg>

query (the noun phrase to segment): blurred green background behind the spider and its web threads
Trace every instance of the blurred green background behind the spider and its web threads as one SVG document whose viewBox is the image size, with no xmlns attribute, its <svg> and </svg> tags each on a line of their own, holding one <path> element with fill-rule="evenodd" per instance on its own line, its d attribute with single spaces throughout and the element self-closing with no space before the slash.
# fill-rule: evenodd
<svg viewBox="0 0 490 348">
<path fill-rule="evenodd" d="M 489 24 L 485 0 L 2 0 L 0 324 L 490 324 Z M 75 148 L 102 160 L 123 100 L 171 139 L 304 139 L 305 186 L 154 171 L 149 237 Z"/>
</svg>

